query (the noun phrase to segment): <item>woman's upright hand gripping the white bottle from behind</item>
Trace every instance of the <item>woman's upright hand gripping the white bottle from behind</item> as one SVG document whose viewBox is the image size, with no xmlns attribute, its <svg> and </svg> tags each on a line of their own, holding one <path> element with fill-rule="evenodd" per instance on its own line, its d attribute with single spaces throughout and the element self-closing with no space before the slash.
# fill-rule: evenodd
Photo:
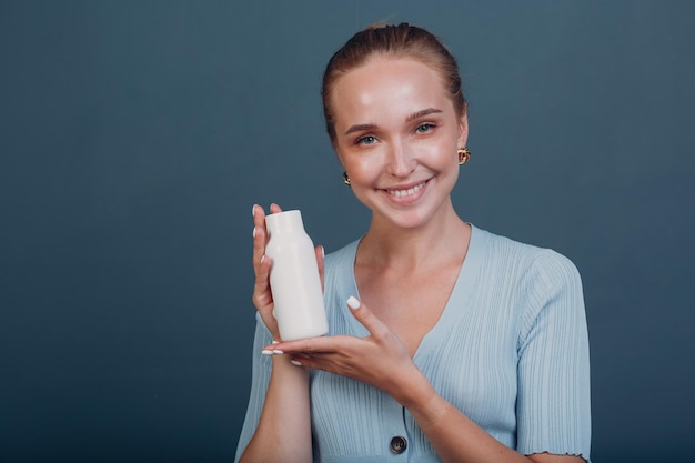
<svg viewBox="0 0 695 463">
<path fill-rule="evenodd" d="M 265 211 L 258 204 L 253 205 L 253 271 L 255 273 L 255 284 L 253 286 L 253 305 L 261 314 L 261 319 L 272 334 L 274 340 L 280 340 L 278 322 L 273 315 L 273 295 L 270 288 L 270 271 L 272 262 L 265 255 L 265 246 L 268 245 L 268 229 L 265 227 Z M 272 203 L 270 205 L 271 213 L 282 212 L 282 209 Z M 314 249 L 316 254 L 316 263 L 319 264 L 319 274 L 321 276 L 321 288 L 323 288 L 323 246 Z"/>
</svg>

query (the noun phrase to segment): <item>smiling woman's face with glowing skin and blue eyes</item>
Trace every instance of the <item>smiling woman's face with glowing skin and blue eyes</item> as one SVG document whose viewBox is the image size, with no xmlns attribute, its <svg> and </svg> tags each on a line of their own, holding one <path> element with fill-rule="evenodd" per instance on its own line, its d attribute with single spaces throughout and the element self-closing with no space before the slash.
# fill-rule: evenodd
<svg viewBox="0 0 695 463">
<path fill-rule="evenodd" d="M 374 220 L 413 229 L 450 207 L 467 119 L 436 70 L 379 57 L 341 77 L 331 104 L 335 150 Z"/>
</svg>

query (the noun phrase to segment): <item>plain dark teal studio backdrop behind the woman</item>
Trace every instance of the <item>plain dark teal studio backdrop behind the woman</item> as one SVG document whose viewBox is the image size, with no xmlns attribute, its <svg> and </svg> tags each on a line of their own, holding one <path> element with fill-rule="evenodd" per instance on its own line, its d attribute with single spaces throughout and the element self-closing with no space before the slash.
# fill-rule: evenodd
<svg viewBox="0 0 695 463">
<path fill-rule="evenodd" d="M 376 20 L 460 60 L 454 202 L 578 266 L 594 462 L 692 462 L 695 2 L 0 2 L 0 460 L 231 461 L 251 205 L 329 251 L 323 66 Z"/>
</svg>

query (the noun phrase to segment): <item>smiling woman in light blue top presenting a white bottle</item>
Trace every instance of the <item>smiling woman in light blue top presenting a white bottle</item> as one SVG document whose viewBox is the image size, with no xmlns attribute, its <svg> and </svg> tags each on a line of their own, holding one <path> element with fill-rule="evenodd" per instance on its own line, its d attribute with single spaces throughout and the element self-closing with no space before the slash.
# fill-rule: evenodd
<svg viewBox="0 0 695 463">
<path fill-rule="evenodd" d="M 238 460 L 588 461 L 580 278 L 562 255 L 454 211 L 470 155 L 454 58 L 423 29 L 367 28 L 333 56 L 322 95 L 344 181 L 372 220 L 325 269 L 316 249 L 329 335 L 278 342 L 253 207 L 259 323 Z"/>
</svg>

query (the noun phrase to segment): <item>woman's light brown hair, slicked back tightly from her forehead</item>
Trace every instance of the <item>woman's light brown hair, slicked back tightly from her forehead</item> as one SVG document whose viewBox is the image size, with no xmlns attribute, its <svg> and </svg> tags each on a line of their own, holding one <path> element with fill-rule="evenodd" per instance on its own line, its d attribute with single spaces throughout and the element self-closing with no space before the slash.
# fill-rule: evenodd
<svg viewBox="0 0 695 463">
<path fill-rule="evenodd" d="M 454 109 L 463 114 L 465 99 L 456 60 L 449 49 L 425 29 L 400 23 L 374 24 L 355 33 L 333 54 L 323 73 L 321 97 L 323 115 L 331 141 L 335 142 L 335 119 L 330 94 L 335 82 L 346 72 L 365 64 L 372 57 L 411 58 L 434 68 L 442 77 Z"/>
</svg>

